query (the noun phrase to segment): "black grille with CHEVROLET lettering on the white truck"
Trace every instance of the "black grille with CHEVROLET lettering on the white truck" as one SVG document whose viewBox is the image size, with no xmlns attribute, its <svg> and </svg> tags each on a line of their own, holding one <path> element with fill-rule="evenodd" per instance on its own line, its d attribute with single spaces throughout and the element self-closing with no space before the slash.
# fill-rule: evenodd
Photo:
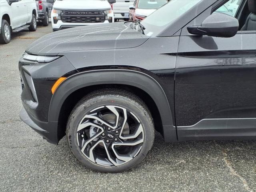
<svg viewBox="0 0 256 192">
<path fill-rule="evenodd" d="M 63 10 L 61 20 L 64 23 L 103 23 L 105 21 L 105 14 L 100 10 Z"/>
</svg>

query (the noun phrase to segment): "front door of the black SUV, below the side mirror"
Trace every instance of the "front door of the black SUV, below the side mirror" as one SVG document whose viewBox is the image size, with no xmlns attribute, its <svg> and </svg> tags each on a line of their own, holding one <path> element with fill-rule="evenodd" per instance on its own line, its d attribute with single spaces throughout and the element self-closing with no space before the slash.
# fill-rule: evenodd
<svg viewBox="0 0 256 192">
<path fill-rule="evenodd" d="M 246 2 L 233 2 L 205 10 L 190 25 L 212 12 L 239 15 Z M 184 27 L 174 94 L 179 140 L 256 138 L 256 31 L 217 38 L 194 36 Z"/>
</svg>

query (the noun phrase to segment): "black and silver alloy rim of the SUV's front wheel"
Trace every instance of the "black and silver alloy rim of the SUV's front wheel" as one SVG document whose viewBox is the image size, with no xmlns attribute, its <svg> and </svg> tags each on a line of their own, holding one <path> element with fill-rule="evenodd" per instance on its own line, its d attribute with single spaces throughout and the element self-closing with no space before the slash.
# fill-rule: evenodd
<svg viewBox="0 0 256 192">
<path fill-rule="evenodd" d="M 102 166 L 119 166 L 138 155 L 144 131 L 132 112 L 107 105 L 91 110 L 82 118 L 76 140 L 88 160 Z"/>
</svg>

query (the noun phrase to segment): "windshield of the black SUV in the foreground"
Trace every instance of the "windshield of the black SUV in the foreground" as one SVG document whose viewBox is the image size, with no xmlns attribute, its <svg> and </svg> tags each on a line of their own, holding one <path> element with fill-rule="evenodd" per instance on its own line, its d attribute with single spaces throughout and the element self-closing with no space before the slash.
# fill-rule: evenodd
<svg viewBox="0 0 256 192">
<path fill-rule="evenodd" d="M 141 24 L 146 28 L 145 34 L 157 35 L 200 1 L 202 0 L 171 0 L 142 20 Z"/>
</svg>

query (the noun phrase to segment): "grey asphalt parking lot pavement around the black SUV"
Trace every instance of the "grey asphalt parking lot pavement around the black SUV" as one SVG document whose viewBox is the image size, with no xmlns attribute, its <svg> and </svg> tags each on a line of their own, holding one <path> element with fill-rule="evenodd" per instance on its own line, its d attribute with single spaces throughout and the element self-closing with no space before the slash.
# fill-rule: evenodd
<svg viewBox="0 0 256 192">
<path fill-rule="evenodd" d="M 118 174 L 93 172 L 21 122 L 18 60 L 51 26 L 13 34 L 0 45 L 0 191 L 256 192 L 256 141 L 164 143 L 156 134 L 142 164 Z"/>
</svg>

